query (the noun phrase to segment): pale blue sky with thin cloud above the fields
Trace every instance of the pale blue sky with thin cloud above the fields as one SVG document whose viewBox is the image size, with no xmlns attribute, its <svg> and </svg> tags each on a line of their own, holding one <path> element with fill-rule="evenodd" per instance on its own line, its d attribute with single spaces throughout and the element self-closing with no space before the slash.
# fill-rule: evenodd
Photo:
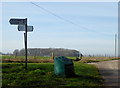
<svg viewBox="0 0 120 88">
<path fill-rule="evenodd" d="M 28 48 L 67 48 L 83 54 L 114 55 L 117 2 L 4 2 L 2 52 L 24 48 L 24 32 L 10 18 L 27 18 L 34 27 Z"/>
</svg>

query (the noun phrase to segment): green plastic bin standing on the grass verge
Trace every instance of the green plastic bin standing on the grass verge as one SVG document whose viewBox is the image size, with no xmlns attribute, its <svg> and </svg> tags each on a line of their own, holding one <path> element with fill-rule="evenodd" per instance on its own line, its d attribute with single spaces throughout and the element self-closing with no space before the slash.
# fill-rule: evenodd
<svg viewBox="0 0 120 88">
<path fill-rule="evenodd" d="M 54 72 L 55 75 L 59 76 L 74 76 L 75 73 L 72 60 L 64 56 L 56 57 L 54 59 Z"/>
</svg>

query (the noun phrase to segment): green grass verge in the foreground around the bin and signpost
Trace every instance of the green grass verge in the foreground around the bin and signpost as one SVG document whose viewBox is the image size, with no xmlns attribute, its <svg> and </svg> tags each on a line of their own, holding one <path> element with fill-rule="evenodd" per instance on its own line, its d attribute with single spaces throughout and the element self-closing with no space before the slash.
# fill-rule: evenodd
<svg viewBox="0 0 120 88">
<path fill-rule="evenodd" d="M 53 63 L 2 63 L 3 88 L 101 88 L 102 78 L 93 65 L 74 63 L 75 77 L 54 75 Z"/>
</svg>

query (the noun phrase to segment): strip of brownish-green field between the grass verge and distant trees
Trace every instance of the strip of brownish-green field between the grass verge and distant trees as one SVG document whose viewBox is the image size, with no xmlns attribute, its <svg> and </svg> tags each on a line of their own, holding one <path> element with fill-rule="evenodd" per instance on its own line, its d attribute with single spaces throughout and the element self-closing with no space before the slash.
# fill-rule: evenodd
<svg viewBox="0 0 120 88">
<path fill-rule="evenodd" d="M 67 57 L 69 59 L 76 59 L 76 57 Z M 83 57 L 79 62 L 83 63 L 90 63 L 90 62 L 100 62 L 100 61 L 109 61 L 109 60 L 116 60 L 120 58 L 115 57 Z M 3 62 L 24 62 L 24 56 L 2 56 Z M 40 56 L 28 56 L 29 63 L 53 63 L 53 59 L 51 57 L 40 57 Z"/>
</svg>

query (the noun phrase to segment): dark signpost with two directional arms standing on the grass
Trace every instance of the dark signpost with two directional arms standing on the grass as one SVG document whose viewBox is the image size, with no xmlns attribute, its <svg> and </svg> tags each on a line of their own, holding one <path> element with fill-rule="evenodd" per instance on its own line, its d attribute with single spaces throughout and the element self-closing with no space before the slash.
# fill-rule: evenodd
<svg viewBox="0 0 120 88">
<path fill-rule="evenodd" d="M 27 32 L 33 31 L 33 26 L 27 26 L 26 19 L 15 19 L 12 18 L 9 20 L 11 25 L 18 25 L 18 31 L 25 31 L 24 33 L 24 42 L 25 42 L 25 69 L 27 70 Z"/>
</svg>

